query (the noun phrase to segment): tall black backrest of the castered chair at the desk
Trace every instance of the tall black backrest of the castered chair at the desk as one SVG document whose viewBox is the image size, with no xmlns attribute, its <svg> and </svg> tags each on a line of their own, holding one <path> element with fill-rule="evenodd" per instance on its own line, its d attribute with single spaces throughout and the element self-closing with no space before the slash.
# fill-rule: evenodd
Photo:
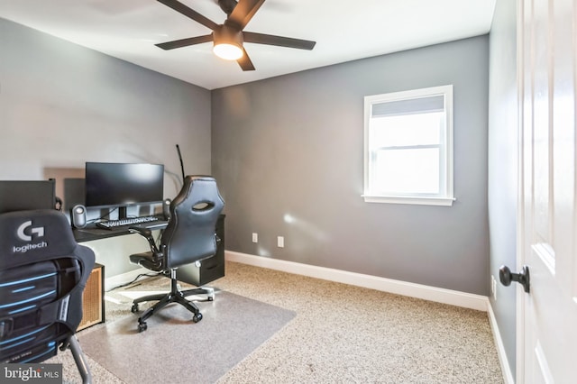
<svg viewBox="0 0 577 384">
<path fill-rule="evenodd" d="M 170 202 L 169 224 L 160 239 L 166 268 L 178 268 L 215 255 L 215 226 L 223 207 L 215 178 L 184 179 L 179 195 Z"/>
</svg>

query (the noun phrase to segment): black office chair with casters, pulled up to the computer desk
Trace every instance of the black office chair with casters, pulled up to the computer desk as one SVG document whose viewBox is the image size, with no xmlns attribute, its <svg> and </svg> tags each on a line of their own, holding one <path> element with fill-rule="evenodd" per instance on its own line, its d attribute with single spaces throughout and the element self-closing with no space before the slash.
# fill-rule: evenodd
<svg viewBox="0 0 577 384">
<path fill-rule="evenodd" d="M 130 256 L 133 264 L 148 270 L 164 273 L 170 277 L 170 292 L 139 297 L 133 301 L 133 313 L 138 311 L 138 304 L 146 301 L 157 301 L 138 319 L 138 331 L 147 328 L 146 319 L 163 306 L 179 303 L 194 314 L 192 320 L 197 323 L 202 319 L 198 307 L 186 297 L 206 294 L 208 300 L 214 298 L 212 288 L 194 288 L 179 291 L 177 270 L 179 267 L 198 263 L 216 253 L 215 226 L 218 216 L 224 207 L 224 200 L 218 192 L 215 178 L 208 176 L 187 176 L 179 195 L 170 202 L 169 224 L 164 229 L 157 245 L 151 230 L 131 227 L 130 231 L 144 236 L 151 251 Z"/>
</svg>

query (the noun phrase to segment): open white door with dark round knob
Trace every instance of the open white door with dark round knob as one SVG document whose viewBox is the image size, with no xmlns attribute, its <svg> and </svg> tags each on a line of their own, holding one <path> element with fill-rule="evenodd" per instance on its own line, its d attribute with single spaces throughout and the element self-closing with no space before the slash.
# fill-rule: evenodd
<svg viewBox="0 0 577 384">
<path fill-rule="evenodd" d="M 577 383 L 576 0 L 518 1 L 517 382 Z M 517 271 L 516 271 L 517 272 Z"/>
</svg>

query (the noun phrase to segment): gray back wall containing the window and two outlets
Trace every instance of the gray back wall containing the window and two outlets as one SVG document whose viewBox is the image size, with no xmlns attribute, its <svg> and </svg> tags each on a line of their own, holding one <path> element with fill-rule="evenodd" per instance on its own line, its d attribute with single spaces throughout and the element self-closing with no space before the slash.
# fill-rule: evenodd
<svg viewBox="0 0 577 384">
<path fill-rule="evenodd" d="M 214 90 L 226 248 L 488 295 L 488 65 L 480 36 Z M 457 201 L 364 203 L 363 96 L 446 84 Z"/>
</svg>

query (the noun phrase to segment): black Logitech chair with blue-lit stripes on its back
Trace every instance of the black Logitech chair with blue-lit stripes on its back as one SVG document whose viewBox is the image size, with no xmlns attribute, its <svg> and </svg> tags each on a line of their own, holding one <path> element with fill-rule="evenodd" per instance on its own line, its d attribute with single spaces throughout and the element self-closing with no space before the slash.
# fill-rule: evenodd
<svg viewBox="0 0 577 384">
<path fill-rule="evenodd" d="M 69 348 L 91 382 L 76 338 L 94 252 L 78 245 L 55 210 L 0 215 L 0 361 L 32 363 Z"/>
</svg>

